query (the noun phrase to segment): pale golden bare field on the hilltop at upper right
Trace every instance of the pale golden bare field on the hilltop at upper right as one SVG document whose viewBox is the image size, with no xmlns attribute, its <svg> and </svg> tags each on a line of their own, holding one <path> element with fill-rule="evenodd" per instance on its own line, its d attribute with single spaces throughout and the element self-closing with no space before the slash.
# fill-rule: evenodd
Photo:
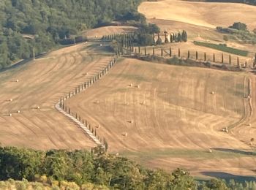
<svg viewBox="0 0 256 190">
<path fill-rule="evenodd" d="M 216 28 L 231 26 L 234 22 L 256 28 L 256 7 L 247 4 L 196 2 L 180 0 L 145 1 L 139 12 L 146 18 L 157 18 Z"/>
</svg>

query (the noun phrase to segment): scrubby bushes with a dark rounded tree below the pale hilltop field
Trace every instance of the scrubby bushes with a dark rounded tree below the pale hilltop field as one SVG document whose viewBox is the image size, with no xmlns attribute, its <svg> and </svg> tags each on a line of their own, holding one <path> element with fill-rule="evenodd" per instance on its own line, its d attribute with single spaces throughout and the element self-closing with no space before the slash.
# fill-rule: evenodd
<svg viewBox="0 0 256 190">
<path fill-rule="evenodd" d="M 247 44 L 256 44 L 256 28 L 253 32 L 247 30 L 247 26 L 244 23 L 234 23 L 233 26 L 228 28 L 217 27 L 217 31 L 227 34 L 224 36 L 225 41 L 236 40 Z"/>
</svg>

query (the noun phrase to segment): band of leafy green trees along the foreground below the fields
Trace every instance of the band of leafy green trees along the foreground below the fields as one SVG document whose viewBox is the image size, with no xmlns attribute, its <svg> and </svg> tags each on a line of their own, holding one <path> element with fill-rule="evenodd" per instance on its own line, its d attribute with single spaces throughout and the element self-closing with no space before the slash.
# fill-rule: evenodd
<svg viewBox="0 0 256 190">
<path fill-rule="evenodd" d="M 234 180 L 226 183 L 224 180 L 212 179 L 200 183 L 188 172 L 180 169 L 172 173 L 148 170 L 129 159 L 113 156 L 100 148 L 94 148 L 91 153 L 0 148 L 0 180 L 9 178 L 38 181 L 50 186 L 64 186 L 67 183 L 65 181 L 68 181 L 75 182 L 80 188 L 85 184 L 94 184 L 95 187 L 102 186 L 105 189 L 256 188 L 255 182 L 236 183 Z M 26 183 L 26 180 L 23 182 Z"/>
</svg>

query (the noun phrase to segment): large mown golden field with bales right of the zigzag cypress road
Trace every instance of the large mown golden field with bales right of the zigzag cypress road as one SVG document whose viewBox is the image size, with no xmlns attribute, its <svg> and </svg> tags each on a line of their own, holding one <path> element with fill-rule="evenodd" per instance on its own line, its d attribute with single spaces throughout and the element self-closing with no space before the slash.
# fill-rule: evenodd
<svg viewBox="0 0 256 190">
<path fill-rule="evenodd" d="M 249 86 L 243 72 L 125 58 L 67 104 L 98 126 L 110 152 L 149 167 L 252 175 L 250 146 L 228 131 L 248 117 Z"/>
</svg>

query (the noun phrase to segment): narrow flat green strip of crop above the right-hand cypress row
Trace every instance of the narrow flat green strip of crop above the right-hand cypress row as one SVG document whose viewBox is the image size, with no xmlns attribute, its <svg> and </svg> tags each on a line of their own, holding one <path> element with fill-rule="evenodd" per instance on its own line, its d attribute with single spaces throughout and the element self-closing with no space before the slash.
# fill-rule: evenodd
<svg viewBox="0 0 256 190">
<path fill-rule="evenodd" d="M 227 45 L 225 44 L 211 44 L 211 43 L 207 43 L 207 42 L 194 42 L 195 45 L 200 45 L 200 46 L 204 46 L 204 47 L 209 47 L 215 50 L 220 50 L 220 51 L 224 51 L 227 53 L 232 53 L 232 54 L 236 54 L 238 56 L 247 56 L 248 55 L 248 51 L 246 50 L 238 50 L 236 48 L 233 47 L 227 47 Z"/>
</svg>

